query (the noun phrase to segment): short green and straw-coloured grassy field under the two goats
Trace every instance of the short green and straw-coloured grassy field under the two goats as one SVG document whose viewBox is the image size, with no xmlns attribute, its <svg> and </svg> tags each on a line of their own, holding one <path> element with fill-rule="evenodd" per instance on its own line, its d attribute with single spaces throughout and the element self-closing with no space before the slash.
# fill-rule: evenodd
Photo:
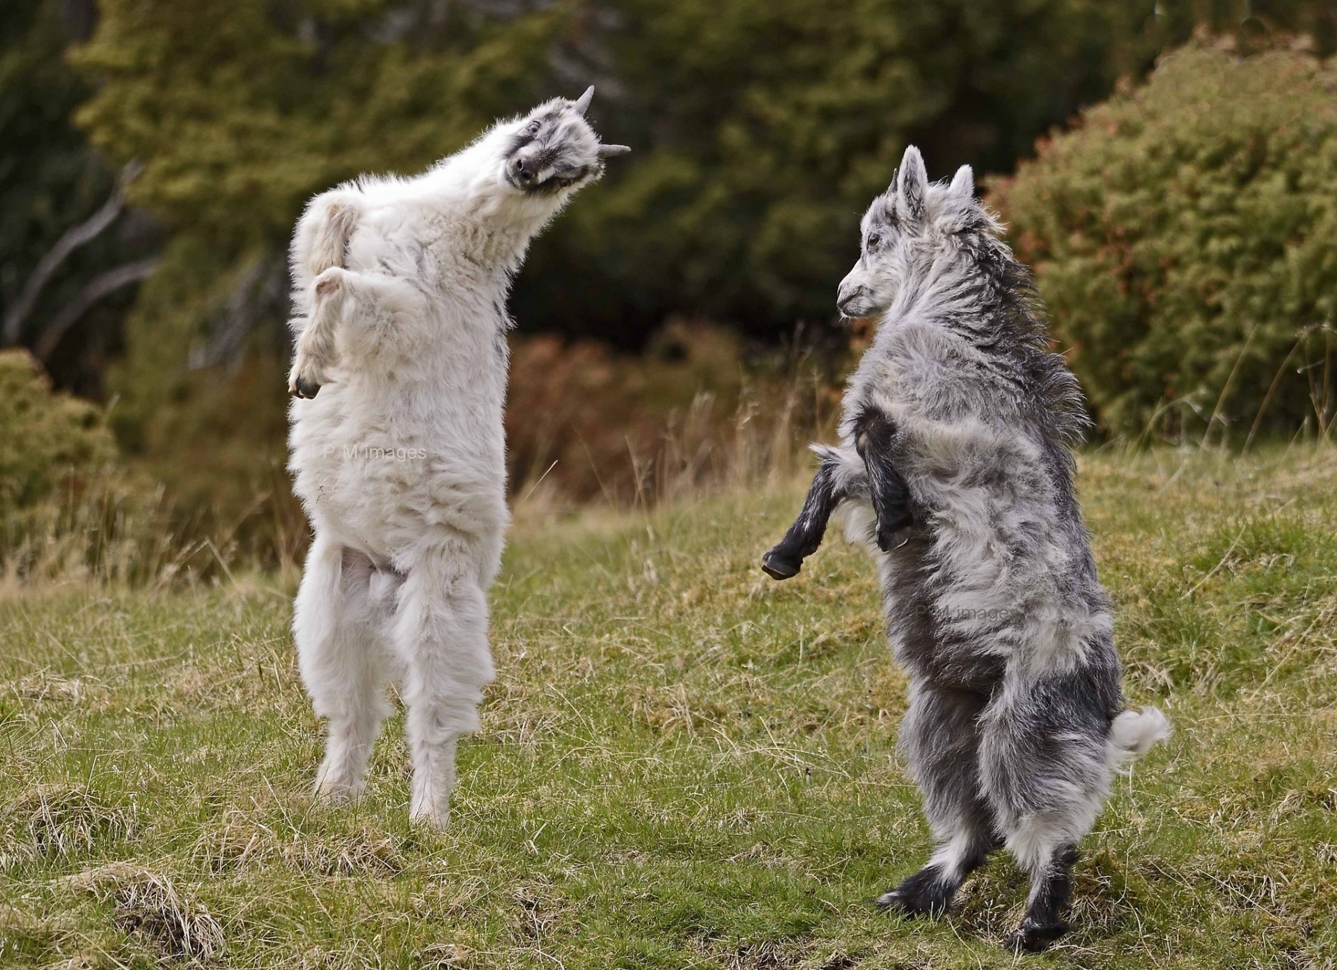
<svg viewBox="0 0 1337 970">
<path fill-rule="evenodd" d="M 308 798 L 290 589 L 0 601 L 5 967 L 1337 966 L 1337 456 L 1107 453 L 1082 488 L 1134 701 L 1076 931 L 1013 958 L 999 856 L 936 923 L 869 899 L 929 850 L 866 556 L 761 552 L 802 482 L 520 516 L 500 677 L 452 828 L 406 820 L 394 721 L 360 804 Z"/>
</svg>

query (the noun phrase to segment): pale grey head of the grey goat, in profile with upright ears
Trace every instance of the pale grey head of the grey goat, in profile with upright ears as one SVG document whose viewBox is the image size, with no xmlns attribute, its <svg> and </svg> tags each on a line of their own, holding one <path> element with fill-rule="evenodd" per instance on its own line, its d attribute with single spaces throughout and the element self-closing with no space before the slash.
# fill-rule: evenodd
<svg viewBox="0 0 1337 970">
<path fill-rule="evenodd" d="M 873 199 L 860 223 L 862 253 L 841 281 L 840 311 L 846 317 L 886 313 L 917 270 L 997 228 L 997 219 L 975 199 L 969 166 L 961 166 L 951 184 L 929 184 L 924 158 L 909 146 L 892 184 Z"/>
</svg>

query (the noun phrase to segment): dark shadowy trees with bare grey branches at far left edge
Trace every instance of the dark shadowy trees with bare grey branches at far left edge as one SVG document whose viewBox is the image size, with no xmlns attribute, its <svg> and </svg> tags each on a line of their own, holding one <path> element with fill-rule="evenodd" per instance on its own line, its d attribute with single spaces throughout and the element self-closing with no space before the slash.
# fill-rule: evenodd
<svg viewBox="0 0 1337 970">
<path fill-rule="evenodd" d="M 0 5 L 0 345 L 83 393 L 100 390 L 154 245 L 71 120 L 90 88 L 64 52 L 92 24 L 92 0 Z"/>
</svg>

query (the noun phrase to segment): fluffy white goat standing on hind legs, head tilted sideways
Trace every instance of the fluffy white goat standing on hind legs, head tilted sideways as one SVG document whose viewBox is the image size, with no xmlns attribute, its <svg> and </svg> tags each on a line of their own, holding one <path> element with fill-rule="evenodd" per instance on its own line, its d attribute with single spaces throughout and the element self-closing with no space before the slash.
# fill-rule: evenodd
<svg viewBox="0 0 1337 970">
<path fill-rule="evenodd" d="M 397 680 L 410 815 L 449 818 L 456 742 L 493 677 L 507 293 L 529 239 L 627 151 L 586 122 L 592 92 L 501 122 L 417 178 L 318 195 L 294 232 L 289 468 L 316 537 L 293 633 L 329 720 L 320 796 L 362 790 Z"/>
</svg>

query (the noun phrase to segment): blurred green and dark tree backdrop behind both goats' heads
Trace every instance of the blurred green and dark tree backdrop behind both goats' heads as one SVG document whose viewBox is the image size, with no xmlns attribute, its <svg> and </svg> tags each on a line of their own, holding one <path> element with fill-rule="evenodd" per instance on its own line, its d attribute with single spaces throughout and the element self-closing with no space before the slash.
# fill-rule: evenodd
<svg viewBox="0 0 1337 970">
<path fill-rule="evenodd" d="M 1318 8 L 1269 16 L 1322 33 Z M 306 196 L 358 171 L 418 170 L 495 115 L 590 80 L 596 120 L 636 154 L 536 246 L 515 297 L 521 327 L 638 346 L 687 313 L 774 338 L 832 317 L 853 216 L 906 142 L 936 171 L 1007 171 L 1195 23 L 1246 13 L 1217 0 L 103 0 L 100 12 L 78 56 L 100 87 L 79 122 L 118 163 L 143 159 L 131 198 L 170 223 L 174 246 L 209 254 L 189 287 L 210 293 L 199 313 L 171 326 L 139 314 L 132 354 L 166 339 L 195 363 L 235 362 L 257 321 L 282 341 L 281 254 Z"/>
</svg>

